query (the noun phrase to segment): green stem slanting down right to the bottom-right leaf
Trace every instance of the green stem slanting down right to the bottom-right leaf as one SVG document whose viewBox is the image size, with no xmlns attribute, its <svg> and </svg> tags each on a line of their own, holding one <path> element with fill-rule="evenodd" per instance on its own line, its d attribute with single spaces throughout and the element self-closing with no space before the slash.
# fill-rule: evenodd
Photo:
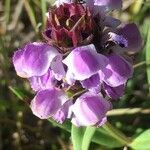
<svg viewBox="0 0 150 150">
<path fill-rule="evenodd" d="M 130 140 L 118 129 L 113 127 L 109 122 L 107 122 L 105 125 L 102 126 L 112 137 L 117 139 L 119 142 L 121 142 L 124 145 L 129 145 Z"/>
</svg>

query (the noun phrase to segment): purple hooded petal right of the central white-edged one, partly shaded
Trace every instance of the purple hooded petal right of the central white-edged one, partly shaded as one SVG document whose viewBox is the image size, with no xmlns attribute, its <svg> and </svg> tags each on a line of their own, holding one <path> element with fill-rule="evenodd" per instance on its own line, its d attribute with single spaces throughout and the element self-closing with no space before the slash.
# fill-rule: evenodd
<svg viewBox="0 0 150 150">
<path fill-rule="evenodd" d="M 109 64 L 99 71 L 101 80 L 111 87 L 125 84 L 133 74 L 133 67 L 123 57 L 110 54 Z"/>
</svg>

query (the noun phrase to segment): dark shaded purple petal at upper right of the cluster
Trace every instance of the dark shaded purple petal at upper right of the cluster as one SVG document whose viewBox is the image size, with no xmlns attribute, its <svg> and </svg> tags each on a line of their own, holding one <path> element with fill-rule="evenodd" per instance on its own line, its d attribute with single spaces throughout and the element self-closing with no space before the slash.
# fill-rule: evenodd
<svg viewBox="0 0 150 150">
<path fill-rule="evenodd" d="M 142 38 L 138 27 L 134 23 L 121 26 L 117 34 L 122 35 L 128 41 L 128 50 L 136 52 L 142 46 Z"/>
</svg>

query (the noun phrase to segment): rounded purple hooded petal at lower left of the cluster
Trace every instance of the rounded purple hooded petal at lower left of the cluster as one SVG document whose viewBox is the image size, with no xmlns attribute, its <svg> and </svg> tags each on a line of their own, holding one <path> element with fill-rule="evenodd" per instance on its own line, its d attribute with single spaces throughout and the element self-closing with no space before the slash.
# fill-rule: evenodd
<svg viewBox="0 0 150 150">
<path fill-rule="evenodd" d="M 52 117 L 67 101 L 66 95 L 58 89 L 51 88 L 39 91 L 31 101 L 34 115 L 41 119 Z"/>
</svg>

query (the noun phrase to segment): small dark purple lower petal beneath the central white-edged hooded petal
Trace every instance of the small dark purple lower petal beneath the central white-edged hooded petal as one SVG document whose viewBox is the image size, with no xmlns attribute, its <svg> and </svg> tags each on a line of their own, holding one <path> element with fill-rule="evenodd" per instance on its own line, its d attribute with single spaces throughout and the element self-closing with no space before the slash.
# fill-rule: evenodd
<svg viewBox="0 0 150 150">
<path fill-rule="evenodd" d="M 100 76 L 98 74 L 95 74 L 90 78 L 81 81 L 81 84 L 83 88 L 86 88 L 94 93 L 99 93 L 101 90 Z"/>
</svg>

